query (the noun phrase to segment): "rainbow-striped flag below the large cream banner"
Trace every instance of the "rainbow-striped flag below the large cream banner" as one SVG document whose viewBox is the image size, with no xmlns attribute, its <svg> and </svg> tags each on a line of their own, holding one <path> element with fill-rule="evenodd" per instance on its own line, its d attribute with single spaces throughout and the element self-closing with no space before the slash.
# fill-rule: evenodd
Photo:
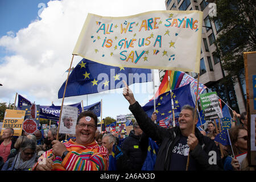
<svg viewBox="0 0 256 182">
<path fill-rule="evenodd" d="M 170 81 L 168 80 L 168 72 L 170 75 Z M 170 91 L 170 85 L 171 85 L 172 90 L 179 88 L 179 85 L 183 78 L 183 75 L 184 75 L 184 72 L 180 72 L 180 71 L 166 71 L 166 75 L 164 75 L 164 78 L 163 78 L 158 90 L 155 93 L 155 98 L 160 96 L 160 94 Z M 151 100 L 153 100 L 153 99 L 154 99 L 154 97 L 151 98 Z"/>
</svg>

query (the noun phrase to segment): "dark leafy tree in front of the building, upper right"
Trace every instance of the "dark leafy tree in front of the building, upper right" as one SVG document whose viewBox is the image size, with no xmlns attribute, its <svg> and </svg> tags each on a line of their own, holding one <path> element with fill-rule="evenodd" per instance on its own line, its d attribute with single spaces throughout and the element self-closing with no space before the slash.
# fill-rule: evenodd
<svg viewBox="0 0 256 182">
<path fill-rule="evenodd" d="M 256 50 L 256 1 L 216 1 L 217 16 L 211 20 L 221 26 L 214 43 L 222 60 L 222 68 L 228 72 L 226 80 L 245 81 L 243 52 Z"/>
</svg>

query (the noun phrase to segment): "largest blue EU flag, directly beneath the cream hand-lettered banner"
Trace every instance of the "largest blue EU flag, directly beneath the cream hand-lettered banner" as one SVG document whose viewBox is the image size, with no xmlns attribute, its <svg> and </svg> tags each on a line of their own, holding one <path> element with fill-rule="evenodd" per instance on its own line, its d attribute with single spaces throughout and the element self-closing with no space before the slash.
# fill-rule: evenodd
<svg viewBox="0 0 256 182">
<path fill-rule="evenodd" d="M 143 68 L 112 67 L 82 59 L 71 72 L 68 78 L 65 97 L 81 96 L 104 92 L 106 90 L 123 88 L 125 85 L 136 82 L 148 82 L 151 79 L 151 70 Z M 65 83 L 58 92 L 58 98 L 63 98 Z"/>
</svg>

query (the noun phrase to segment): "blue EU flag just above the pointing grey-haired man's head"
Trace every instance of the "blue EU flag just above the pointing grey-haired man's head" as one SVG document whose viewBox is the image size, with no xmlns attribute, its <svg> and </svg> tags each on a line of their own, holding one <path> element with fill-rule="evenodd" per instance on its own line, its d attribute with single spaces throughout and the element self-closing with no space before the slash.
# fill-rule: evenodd
<svg viewBox="0 0 256 182">
<path fill-rule="evenodd" d="M 172 114 L 171 94 L 172 100 L 174 101 L 174 113 L 180 113 L 181 107 L 187 104 L 195 107 L 191 95 L 190 84 L 181 86 L 180 88 L 172 90 L 172 93 L 168 91 L 158 96 L 158 98 L 156 98 L 156 121 L 160 121 Z M 154 100 L 151 100 L 142 108 L 147 113 L 148 117 L 151 117 L 154 111 Z"/>
</svg>

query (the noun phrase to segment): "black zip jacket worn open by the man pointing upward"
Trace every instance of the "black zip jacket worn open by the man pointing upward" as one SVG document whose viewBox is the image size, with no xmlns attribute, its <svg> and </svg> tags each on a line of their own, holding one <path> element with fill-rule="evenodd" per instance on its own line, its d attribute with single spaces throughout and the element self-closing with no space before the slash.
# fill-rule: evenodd
<svg viewBox="0 0 256 182">
<path fill-rule="evenodd" d="M 166 129 L 156 125 L 148 115 L 144 112 L 138 102 L 130 105 L 129 109 L 133 113 L 136 121 L 141 127 L 142 131 L 151 137 L 153 140 L 161 142 L 158 155 L 156 156 L 155 171 L 168 171 L 171 164 L 171 152 L 175 144 L 179 142 L 181 131 L 179 127 Z M 196 128 L 195 135 L 199 140 L 199 144 L 193 151 L 189 152 L 191 158 L 196 160 L 196 168 L 199 170 L 223 170 L 220 152 L 217 149 L 214 140 L 205 137 Z M 210 164 L 209 159 L 213 156 L 210 151 L 216 153 L 216 164 Z"/>
</svg>

